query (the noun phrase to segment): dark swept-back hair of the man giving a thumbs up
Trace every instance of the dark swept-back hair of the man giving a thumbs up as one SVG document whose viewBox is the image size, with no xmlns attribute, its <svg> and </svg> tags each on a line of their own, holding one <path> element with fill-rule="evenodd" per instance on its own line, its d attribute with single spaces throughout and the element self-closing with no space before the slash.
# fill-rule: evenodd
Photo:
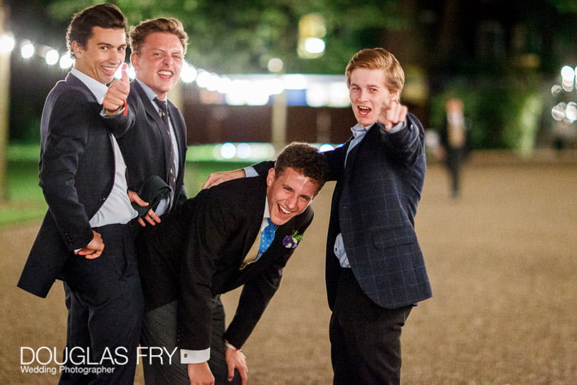
<svg viewBox="0 0 577 385">
<path fill-rule="evenodd" d="M 90 6 L 83 11 L 74 14 L 68 29 L 66 30 L 66 47 L 70 57 L 75 58 L 72 42 L 76 41 L 82 47 L 92 37 L 92 28 L 124 29 L 127 21 L 120 8 L 114 4 L 98 4 Z"/>
</svg>

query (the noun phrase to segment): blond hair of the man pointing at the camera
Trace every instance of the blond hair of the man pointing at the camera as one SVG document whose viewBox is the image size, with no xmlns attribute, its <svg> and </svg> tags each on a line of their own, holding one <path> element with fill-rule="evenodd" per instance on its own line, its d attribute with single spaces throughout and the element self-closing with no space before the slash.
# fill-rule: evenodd
<svg viewBox="0 0 577 385">
<path fill-rule="evenodd" d="M 392 53 L 384 48 L 365 48 L 355 53 L 344 71 L 347 87 L 351 86 L 351 73 L 356 68 L 383 70 L 388 91 L 390 93 L 398 92 L 398 97 L 401 99 L 401 91 L 405 85 L 405 73 Z"/>
</svg>

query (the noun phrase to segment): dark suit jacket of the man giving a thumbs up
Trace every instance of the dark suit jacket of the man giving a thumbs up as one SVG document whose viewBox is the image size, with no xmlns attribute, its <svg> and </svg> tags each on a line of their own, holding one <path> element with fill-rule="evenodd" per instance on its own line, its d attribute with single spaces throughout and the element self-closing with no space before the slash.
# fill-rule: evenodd
<svg viewBox="0 0 577 385">
<path fill-rule="evenodd" d="M 102 117 L 88 87 L 72 74 L 46 98 L 41 121 L 40 186 L 48 212 L 34 241 L 18 287 L 46 297 L 71 251 L 92 241 L 88 221 L 114 183 L 110 135 L 122 135 L 134 114 Z"/>
</svg>

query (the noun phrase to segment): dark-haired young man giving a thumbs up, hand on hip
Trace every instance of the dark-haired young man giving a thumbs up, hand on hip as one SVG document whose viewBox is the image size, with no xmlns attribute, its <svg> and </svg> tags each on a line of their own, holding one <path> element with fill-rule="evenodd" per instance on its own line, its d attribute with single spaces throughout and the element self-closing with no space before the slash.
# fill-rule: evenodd
<svg viewBox="0 0 577 385">
<path fill-rule="evenodd" d="M 55 279 L 65 283 L 63 383 L 132 384 L 144 304 L 128 224 L 136 212 L 115 138 L 134 122 L 126 67 L 115 80 L 125 16 L 110 4 L 92 6 L 75 14 L 66 40 L 74 68 L 51 90 L 41 121 L 49 210 L 18 286 L 46 297 Z"/>
</svg>

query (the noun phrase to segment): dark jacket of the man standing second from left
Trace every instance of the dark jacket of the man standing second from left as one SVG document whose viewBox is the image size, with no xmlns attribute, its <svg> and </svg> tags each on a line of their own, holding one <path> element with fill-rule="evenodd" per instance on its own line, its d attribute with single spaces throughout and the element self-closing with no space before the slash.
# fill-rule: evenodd
<svg viewBox="0 0 577 385">
<path fill-rule="evenodd" d="M 134 129 L 118 139 L 127 166 L 128 189 L 138 192 L 149 176 L 160 176 L 169 184 L 171 140 L 164 129 L 158 107 L 150 102 L 137 81 L 130 84 L 127 104 L 136 112 Z M 184 162 L 186 161 L 186 125 L 178 108 L 171 102 L 169 117 L 176 135 L 179 152 L 179 174 L 174 191 L 175 206 L 186 201 L 184 191 Z"/>
</svg>

